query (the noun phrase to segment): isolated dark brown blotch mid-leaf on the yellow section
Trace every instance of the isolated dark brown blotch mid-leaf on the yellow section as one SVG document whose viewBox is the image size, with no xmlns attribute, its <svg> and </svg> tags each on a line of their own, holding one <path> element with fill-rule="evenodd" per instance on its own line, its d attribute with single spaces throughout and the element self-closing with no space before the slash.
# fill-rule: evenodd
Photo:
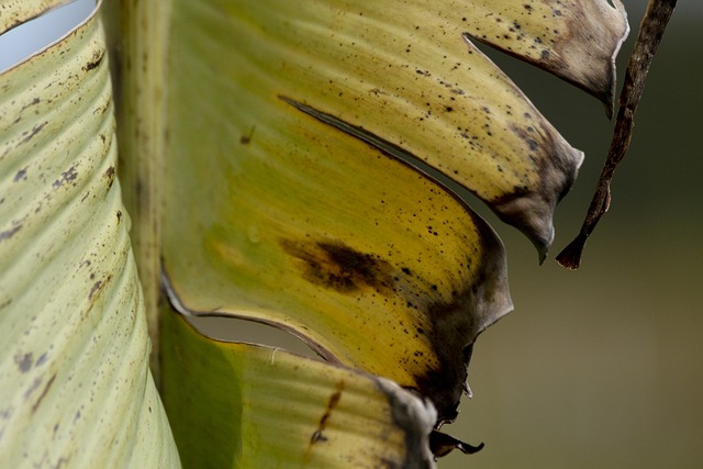
<svg viewBox="0 0 703 469">
<path fill-rule="evenodd" d="M 339 293 L 373 289 L 388 295 L 393 291 L 393 267 L 378 256 L 338 242 L 282 239 L 280 245 L 299 260 L 305 280 L 311 283 Z"/>
</svg>

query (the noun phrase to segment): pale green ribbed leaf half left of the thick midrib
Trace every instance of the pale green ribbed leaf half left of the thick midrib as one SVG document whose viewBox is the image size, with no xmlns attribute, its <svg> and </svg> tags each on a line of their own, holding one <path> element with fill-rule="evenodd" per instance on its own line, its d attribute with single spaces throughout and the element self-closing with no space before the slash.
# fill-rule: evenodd
<svg viewBox="0 0 703 469">
<path fill-rule="evenodd" d="M 3 11 L 4 12 L 4 11 Z M 97 15 L 0 75 L 0 467 L 178 467 Z"/>
</svg>

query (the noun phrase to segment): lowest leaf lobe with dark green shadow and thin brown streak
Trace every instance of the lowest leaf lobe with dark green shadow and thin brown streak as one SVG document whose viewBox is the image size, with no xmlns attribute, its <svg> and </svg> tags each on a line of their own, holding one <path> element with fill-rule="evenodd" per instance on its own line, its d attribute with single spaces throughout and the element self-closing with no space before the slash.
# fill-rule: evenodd
<svg viewBox="0 0 703 469">
<path fill-rule="evenodd" d="M 163 316 L 164 403 L 185 467 L 431 468 L 433 406 L 395 383 Z"/>
</svg>

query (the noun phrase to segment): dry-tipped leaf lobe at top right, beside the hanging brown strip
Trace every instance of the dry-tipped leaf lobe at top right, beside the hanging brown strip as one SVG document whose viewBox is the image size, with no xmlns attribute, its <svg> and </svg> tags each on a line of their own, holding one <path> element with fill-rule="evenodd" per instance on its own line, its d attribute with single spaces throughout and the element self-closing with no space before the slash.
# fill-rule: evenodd
<svg viewBox="0 0 703 469">
<path fill-rule="evenodd" d="M 620 0 L 472 0 L 458 10 L 471 37 L 582 88 L 613 114 L 615 56 L 629 32 Z"/>
</svg>

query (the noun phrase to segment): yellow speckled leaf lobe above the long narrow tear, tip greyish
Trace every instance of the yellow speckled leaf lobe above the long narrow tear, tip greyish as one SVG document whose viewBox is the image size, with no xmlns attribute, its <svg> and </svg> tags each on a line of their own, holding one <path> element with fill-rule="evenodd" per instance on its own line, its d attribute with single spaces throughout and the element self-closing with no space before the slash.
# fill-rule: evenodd
<svg viewBox="0 0 703 469">
<path fill-rule="evenodd" d="M 235 81 L 238 94 L 219 100 L 252 113 L 227 124 L 245 139 L 249 101 L 277 96 L 362 127 L 486 200 L 544 256 L 582 154 L 467 40 L 468 7 L 455 3 L 176 1 L 170 76 L 196 67 Z"/>
</svg>

